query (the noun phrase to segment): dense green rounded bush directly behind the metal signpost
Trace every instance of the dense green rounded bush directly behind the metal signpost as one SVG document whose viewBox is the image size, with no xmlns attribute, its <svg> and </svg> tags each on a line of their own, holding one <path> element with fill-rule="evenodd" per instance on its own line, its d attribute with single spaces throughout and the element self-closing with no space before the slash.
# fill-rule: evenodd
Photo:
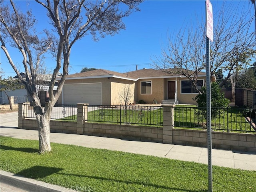
<svg viewBox="0 0 256 192">
<path fill-rule="evenodd" d="M 199 94 L 194 99 L 198 103 L 198 107 L 206 107 L 206 87 L 202 87 L 202 94 Z M 220 115 L 221 111 L 224 110 L 216 110 L 214 108 L 228 108 L 228 104 L 230 100 L 225 98 L 224 93 L 220 92 L 220 87 L 218 83 L 211 83 L 211 114 L 212 117 L 216 117 Z M 206 117 L 206 110 L 200 110 L 203 116 Z"/>
</svg>

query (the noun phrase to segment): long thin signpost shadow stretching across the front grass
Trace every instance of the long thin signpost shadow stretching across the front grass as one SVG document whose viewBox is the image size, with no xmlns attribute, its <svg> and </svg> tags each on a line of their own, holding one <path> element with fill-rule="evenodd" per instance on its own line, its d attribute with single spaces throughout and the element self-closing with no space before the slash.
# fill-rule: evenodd
<svg viewBox="0 0 256 192">
<path fill-rule="evenodd" d="M 158 185 L 158 184 L 149 184 L 149 183 L 136 182 L 136 181 L 124 181 L 124 180 L 110 179 L 110 178 L 104 178 L 104 177 L 98 177 L 98 176 L 66 174 L 66 173 L 58 173 L 58 174 L 67 175 L 67 176 L 76 176 L 76 177 L 86 177 L 86 178 L 92 178 L 92 179 L 98 179 L 98 180 L 106 180 L 106 181 L 110 181 L 110 182 L 114 181 L 114 182 L 118 182 L 118 183 L 138 184 L 138 185 L 144 185 L 144 186 L 148 186 L 148 187 L 162 188 L 165 190 L 176 190 L 176 191 L 183 191 L 183 192 L 207 192 L 208 191 L 207 189 L 188 190 L 188 189 L 172 188 L 172 187 L 167 187 L 167 186 Z"/>
</svg>

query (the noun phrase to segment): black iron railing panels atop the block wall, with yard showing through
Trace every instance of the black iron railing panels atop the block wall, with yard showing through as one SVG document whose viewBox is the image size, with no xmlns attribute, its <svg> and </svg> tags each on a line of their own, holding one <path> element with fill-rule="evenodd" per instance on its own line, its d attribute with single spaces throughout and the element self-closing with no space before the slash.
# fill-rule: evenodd
<svg viewBox="0 0 256 192">
<path fill-rule="evenodd" d="M 212 130 L 220 132 L 256 133 L 253 108 L 212 108 Z M 206 130 L 206 108 L 174 107 L 174 128 Z M 28 117 L 35 118 L 28 110 Z M 52 119 L 76 121 L 77 105 L 56 105 Z M 88 106 L 87 122 L 123 125 L 163 126 L 162 106 Z"/>
</svg>

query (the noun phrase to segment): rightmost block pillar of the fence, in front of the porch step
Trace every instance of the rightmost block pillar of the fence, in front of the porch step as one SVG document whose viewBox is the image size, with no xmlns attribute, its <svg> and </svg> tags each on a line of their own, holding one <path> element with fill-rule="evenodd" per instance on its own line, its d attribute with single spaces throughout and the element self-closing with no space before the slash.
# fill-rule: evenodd
<svg viewBox="0 0 256 192">
<path fill-rule="evenodd" d="M 172 144 L 172 129 L 174 125 L 175 105 L 162 105 L 163 107 L 163 143 Z"/>
</svg>

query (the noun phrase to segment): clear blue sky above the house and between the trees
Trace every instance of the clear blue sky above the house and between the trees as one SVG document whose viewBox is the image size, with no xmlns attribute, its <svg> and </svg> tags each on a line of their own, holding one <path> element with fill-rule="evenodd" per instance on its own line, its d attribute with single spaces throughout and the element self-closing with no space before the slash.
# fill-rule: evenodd
<svg viewBox="0 0 256 192">
<path fill-rule="evenodd" d="M 28 2 L 29 6 L 26 5 Z M 211 2 L 213 12 L 214 7 L 223 3 L 218 0 Z M 16 3 L 22 10 L 32 9 L 38 20 L 38 28 L 47 26 L 47 17 L 40 11 L 40 5 L 32 1 L 16 1 Z M 239 1 L 231 3 L 232 6 L 236 6 Z M 242 3 L 251 6 L 249 0 Z M 161 47 L 166 44 L 168 35 L 175 34 L 191 22 L 194 24 L 202 22 L 205 18 L 204 0 L 144 1 L 139 7 L 140 12 L 133 12 L 124 18 L 126 30 L 121 30 L 119 34 L 106 36 L 98 42 L 94 42 L 91 36 L 77 41 L 70 55 L 69 74 L 80 72 L 83 67 L 102 68 L 121 73 L 136 70 L 136 65 L 138 69 L 154 68 L 152 60 L 154 56 L 161 55 Z M 11 50 L 10 54 L 14 63 L 20 64 L 20 72 L 24 72 L 18 50 Z M 0 62 L 5 78 L 16 75 L 2 49 Z M 46 56 L 44 62 L 49 71 L 56 65 L 51 56 Z"/>
</svg>

